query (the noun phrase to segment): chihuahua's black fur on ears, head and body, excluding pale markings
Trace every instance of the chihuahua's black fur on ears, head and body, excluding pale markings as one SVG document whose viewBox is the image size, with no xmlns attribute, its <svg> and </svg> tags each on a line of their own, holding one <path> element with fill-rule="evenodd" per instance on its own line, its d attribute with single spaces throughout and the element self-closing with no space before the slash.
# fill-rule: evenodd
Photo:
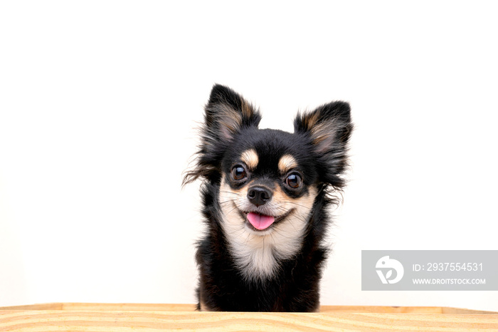
<svg viewBox="0 0 498 332">
<path fill-rule="evenodd" d="M 207 232 L 198 242 L 198 309 L 201 303 L 213 311 L 317 311 L 319 280 L 327 257 L 324 235 L 330 224 L 327 207 L 336 203 L 333 192 L 344 186 L 346 152 L 352 124 L 349 105 L 334 102 L 295 118 L 295 133 L 260 130 L 261 116 L 230 88 L 215 85 L 206 105 L 201 148 L 196 167 L 184 183 L 203 178 L 203 216 Z M 254 149 L 260 162 L 251 179 L 280 185 L 287 197 L 298 198 L 315 188 L 302 246 L 287 259 L 277 259 L 278 269 L 270 277 L 248 279 L 240 271 L 223 232 L 219 202 L 222 175 L 231 172 L 240 153 Z M 300 190 L 284 185 L 277 164 L 290 154 L 304 173 Z M 262 180 L 262 181 L 263 181 Z M 226 181 L 236 189 L 233 182 Z M 243 184 L 245 185 L 245 184 Z"/>
</svg>

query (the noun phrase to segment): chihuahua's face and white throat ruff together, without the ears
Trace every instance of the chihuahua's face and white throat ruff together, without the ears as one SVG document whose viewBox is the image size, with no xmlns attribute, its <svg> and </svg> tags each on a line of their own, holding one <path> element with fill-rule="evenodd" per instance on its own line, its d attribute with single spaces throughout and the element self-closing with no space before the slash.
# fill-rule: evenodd
<svg viewBox="0 0 498 332">
<path fill-rule="evenodd" d="M 243 130 L 223 157 L 221 227 L 248 279 L 272 276 L 278 259 L 302 245 L 317 179 L 299 143 L 289 133 Z"/>
</svg>

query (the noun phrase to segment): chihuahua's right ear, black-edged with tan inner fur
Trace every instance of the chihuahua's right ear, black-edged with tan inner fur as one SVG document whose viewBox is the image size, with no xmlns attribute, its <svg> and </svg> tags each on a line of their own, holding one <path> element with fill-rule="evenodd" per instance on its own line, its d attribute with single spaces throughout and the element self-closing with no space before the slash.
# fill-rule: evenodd
<svg viewBox="0 0 498 332">
<path fill-rule="evenodd" d="M 298 114 L 295 133 L 309 139 L 319 160 L 322 181 L 334 187 L 344 185 L 341 175 L 347 166 L 348 142 L 353 130 L 349 103 L 336 101 L 319 106 L 309 113 Z"/>
</svg>

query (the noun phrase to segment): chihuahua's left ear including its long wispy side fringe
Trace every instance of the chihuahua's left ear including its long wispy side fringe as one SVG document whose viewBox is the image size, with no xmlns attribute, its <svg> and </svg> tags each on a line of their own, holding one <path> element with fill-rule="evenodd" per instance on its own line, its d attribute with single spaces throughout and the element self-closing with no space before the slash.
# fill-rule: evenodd
<svg viewBox="0 0 498 332">
<path fill-rule="evenodd" d="M 213 86 L 204 110 L 196 166 L 185 173 L 184 185 L 198 177 L 218 182 L 223 154 L 235 135 L 244 128 L 258 127 L 261 120 L 260 113 L 253 105 L 231 88 L 219 84 Z"/>
</svg>

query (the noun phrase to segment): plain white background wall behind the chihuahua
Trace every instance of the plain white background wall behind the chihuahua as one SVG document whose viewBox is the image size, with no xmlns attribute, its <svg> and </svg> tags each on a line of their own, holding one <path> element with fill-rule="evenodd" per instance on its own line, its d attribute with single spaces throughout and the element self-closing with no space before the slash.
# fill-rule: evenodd
<svg viewBox="0 0 498 332">
<path fill-rule="evenodd" d="M 194 303 L 213 83 L 263 128 L 351 103 L 322 304 L 498 311 L 497 291 L 361 291 L 362 249 L 498 249 L 493 1 L 1 1 L 0 306 Z"/>
</svg>

